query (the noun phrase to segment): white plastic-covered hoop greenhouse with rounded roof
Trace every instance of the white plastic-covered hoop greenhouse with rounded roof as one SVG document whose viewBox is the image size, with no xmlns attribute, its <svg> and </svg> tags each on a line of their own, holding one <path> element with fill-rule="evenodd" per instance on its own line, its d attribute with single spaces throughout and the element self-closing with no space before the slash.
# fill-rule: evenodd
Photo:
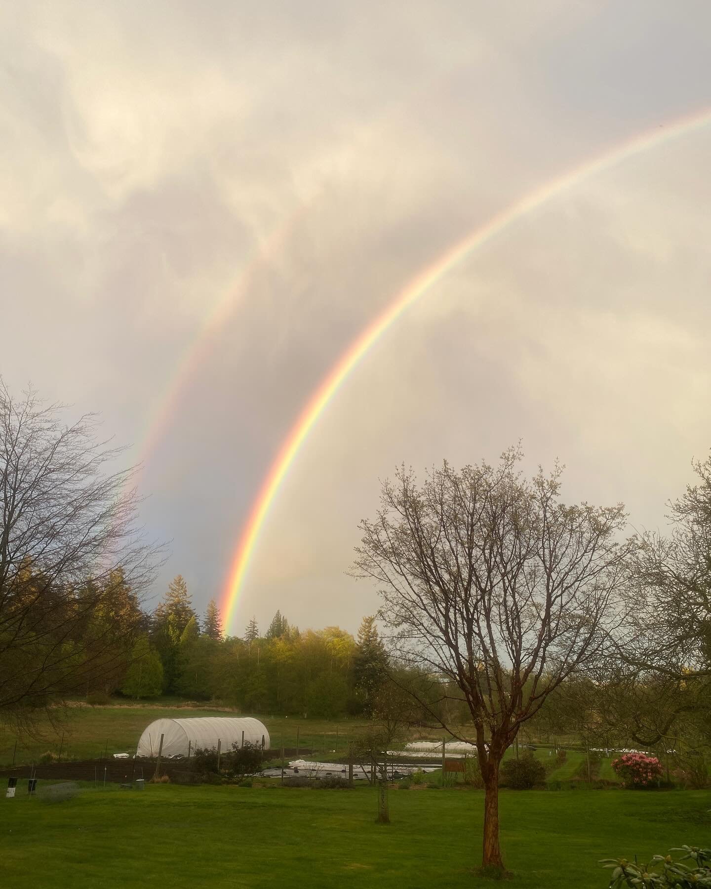
<svg viewBox="0 0 711 889">
<path fill-rule="evenodd" d="M 220 749 L 223 753 L 232 750 L 236 743 L 244 742 L 259 744 L 261 747 L 264 739 L 264 749 L 269 747 L 269 733 L 266 725 L 259 719 L 252 717 L 199 717 L 195 719 L 156 719 L 148 725 L 140 736 L 139 748 L 136 755 L 139 757 L 156 757 L 163 739 L 163 756 L 178 757 L 188 756 L 188 744 L 190 749 L 212 750 L 217 749 L 217 742 L 221 741 Z"/>
</svg>

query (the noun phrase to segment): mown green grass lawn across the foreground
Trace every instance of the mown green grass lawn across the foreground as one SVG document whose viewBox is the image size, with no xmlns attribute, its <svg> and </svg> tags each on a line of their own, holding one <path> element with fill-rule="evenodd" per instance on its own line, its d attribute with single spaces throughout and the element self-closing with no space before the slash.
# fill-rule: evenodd
<svg viewBox="0 0 711 889">
<path fill-rule="evenodd" d="M 65 802 L 0 799 L 4 885 L 45 889 L 170 885 L 491 885 L 479 860 L 483 797 L 393 790 L 392 824 L 375 792 L 148 786 L 85 789 Z M 644 859 L 708 845 L 705 791 L 502 791 L 502 842 L 516 889 L 607 885 L 598 859 Z"/>
</svg>

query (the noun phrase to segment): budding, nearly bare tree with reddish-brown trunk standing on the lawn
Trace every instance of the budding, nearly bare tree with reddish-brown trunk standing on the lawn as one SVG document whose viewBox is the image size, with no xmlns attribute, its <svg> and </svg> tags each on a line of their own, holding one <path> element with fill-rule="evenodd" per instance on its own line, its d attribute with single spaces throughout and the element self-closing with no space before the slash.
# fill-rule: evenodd
<svg viewBox="0 0 711 889">
<path fill-rule="evenodd" d="M 525 481 L 520 459 L 512 448 L 497 469 L 445 462 L 421 486 L 401 469 L 383 485 L 377 519 L 361 524 L 353 570 L 378 581 L 395 653 L 454 683 L 467 703 L 485 787 L 483 865 L 494 869 L 503 869 L 501 759 L 623 619 L 617 590 L 632 546 L 617 540 L 621 505 L 565 506 L 561 468 Z"/>
</svg>

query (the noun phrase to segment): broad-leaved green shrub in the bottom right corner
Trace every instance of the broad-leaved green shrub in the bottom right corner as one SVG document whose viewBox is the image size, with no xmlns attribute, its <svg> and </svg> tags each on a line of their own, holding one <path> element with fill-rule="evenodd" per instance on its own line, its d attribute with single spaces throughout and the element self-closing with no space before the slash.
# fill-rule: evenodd
<svg viewBox="0 0 711 889">
<path fill-rule="evenodd" d="M 676 861 L 668 854 L 654 855 L 646 864 L 633 864 L 626 858 L 607 858 L 600 863 L 612 869 L 610 889 L 623 889 L 625 886 L 653 886 L 654 889 L 711 886 L 711 849 L 683 845 L 669 852 L 684 854 Z"/>
</svg>

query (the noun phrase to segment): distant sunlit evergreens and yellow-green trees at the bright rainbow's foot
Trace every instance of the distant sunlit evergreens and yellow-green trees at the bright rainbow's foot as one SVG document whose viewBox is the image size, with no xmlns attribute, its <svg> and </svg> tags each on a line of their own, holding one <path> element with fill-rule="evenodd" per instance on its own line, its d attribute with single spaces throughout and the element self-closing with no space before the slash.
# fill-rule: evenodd
<svg viewBox="0 0 711 889">
<path fill-rule="evenodd" d="M 264 635 L 252 619 L 244 637 L 222 637 L 210 602 L 202 621 L 179 575 L 133 646 L 130 666 L 110 691 L 133 698 L 176 694 L 219 700 L 252 713 L 334 718 L 368 712 L 387 674 L 374 617 L 357 637 L 340 627 L 301 631 L 277 611 Z M 106 689 L 109 691 L 109 689 Z"/>
</svg>

